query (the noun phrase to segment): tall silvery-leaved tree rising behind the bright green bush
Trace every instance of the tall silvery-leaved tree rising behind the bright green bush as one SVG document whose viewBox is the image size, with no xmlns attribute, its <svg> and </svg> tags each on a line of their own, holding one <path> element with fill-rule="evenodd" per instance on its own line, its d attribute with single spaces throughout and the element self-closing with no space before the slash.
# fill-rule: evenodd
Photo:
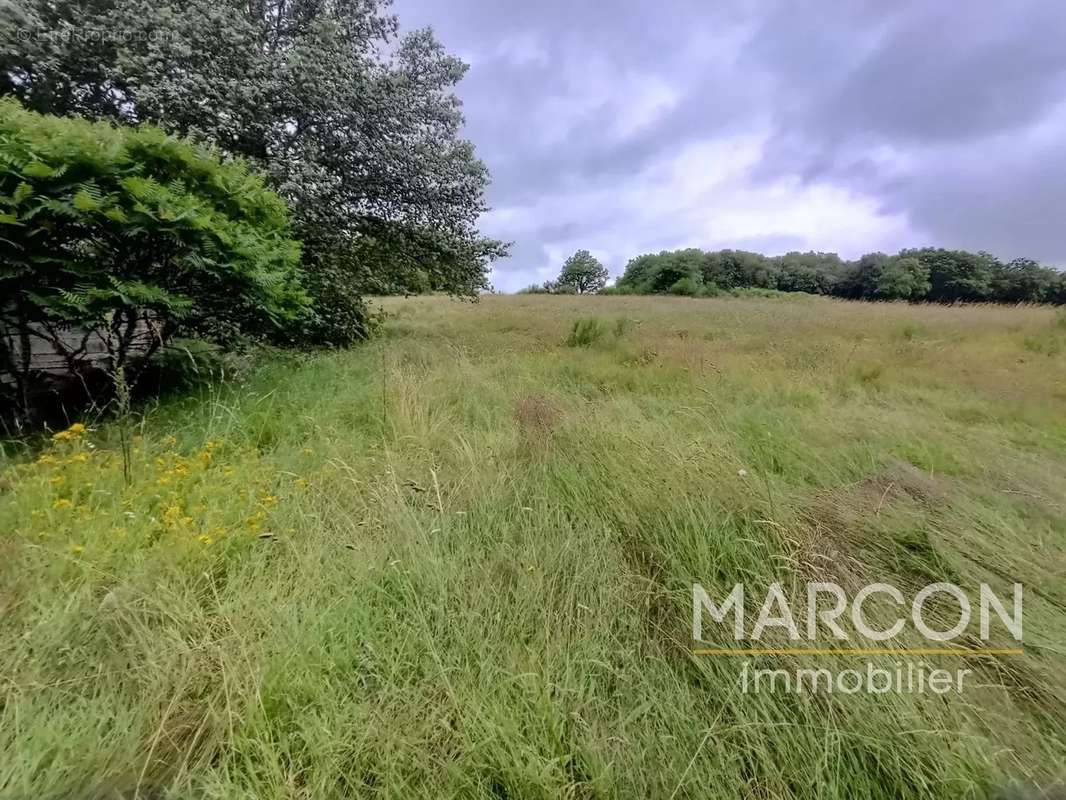
<svg viewBox="0 0 1066 800">
<path fill-rule="evenodd" d="M 254 160 L 289 202 L 318 337 L 362 333 L 362 292 L 420 270 L 486 286 L 488 172 L 461 138 L 466 66 L 388 0 L 26 0 L 0 21 L 0 94 L 151 122 Z"/>
</svg>

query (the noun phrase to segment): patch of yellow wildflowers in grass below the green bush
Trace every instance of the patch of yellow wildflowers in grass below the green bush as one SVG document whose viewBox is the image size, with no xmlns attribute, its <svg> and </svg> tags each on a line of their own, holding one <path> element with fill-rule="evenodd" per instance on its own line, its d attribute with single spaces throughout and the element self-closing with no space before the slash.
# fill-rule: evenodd
<svg viewBox="0 0 1066 800">
<path fill-rule="evenodd" d="M 0 529 L 55 542 L 67 557 L 164 545 L 221 553 L 256 546 L 292 493 L 309 485 L 291 473 L 282 479 L 258 450 L 219 438 L 191 452 L 179 452 L 174 436 L 133 444 L 124 458 L 94 446 L 76 423 L 34 462 L 0 467 L 11 487 L 0 495 Z"/>
</svg>

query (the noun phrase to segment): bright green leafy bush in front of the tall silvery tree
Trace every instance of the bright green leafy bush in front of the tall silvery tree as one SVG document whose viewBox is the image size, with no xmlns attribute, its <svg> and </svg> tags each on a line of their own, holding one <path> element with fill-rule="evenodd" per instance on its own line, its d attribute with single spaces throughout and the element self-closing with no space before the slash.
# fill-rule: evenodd
<svg viewBox="0 0 1066 800">
<path fill-rule="evenodd" d="M 112 374 L 176 336 L 295 337 L 298 260 L 285 203 L 243 161 L 0 101 L 0 371 L 23 405 L 31 337 L 78 372 L 97 332 Z"/>
</svg>

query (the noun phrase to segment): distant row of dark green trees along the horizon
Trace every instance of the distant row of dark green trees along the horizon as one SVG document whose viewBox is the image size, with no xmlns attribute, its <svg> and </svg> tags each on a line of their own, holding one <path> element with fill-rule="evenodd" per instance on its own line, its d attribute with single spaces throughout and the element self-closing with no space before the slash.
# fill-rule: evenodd
<svg viewBox="0 0 1066 800">
<path fill-rule="evenodd" d="M 577 275 L 586 283 L 578 285 Z M 594 279 L 588 281 L 588 276 Z M 555 282 L 527 292 L 596 291 L 607 271 L 579 251 Z M 617 283 L 603 291 L 711 297 L 732 289 L 770 289 L 853 300 L 936 303 L 1066 304 L 1066 273 L 1029 258 L 1002 261 L 989 253 L 920 247 L 895 255 L 868 253 L 847 261 L 836 253 L 765 256 L 741 250 L 663 251 L 631 259 Z"/>
</svg>

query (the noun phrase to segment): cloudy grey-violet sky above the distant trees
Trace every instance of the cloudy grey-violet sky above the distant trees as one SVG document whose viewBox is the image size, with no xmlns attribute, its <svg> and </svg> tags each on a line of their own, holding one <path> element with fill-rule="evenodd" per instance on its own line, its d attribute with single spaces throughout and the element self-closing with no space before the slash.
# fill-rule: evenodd
<svg viewBox="0 0 1066 800">
<path fill-rule="evenodd" d="M 585 247 L 1066 267 L 1064 0 L 395 0 L 470 64 L 513 291 Z"/>
</svg>

